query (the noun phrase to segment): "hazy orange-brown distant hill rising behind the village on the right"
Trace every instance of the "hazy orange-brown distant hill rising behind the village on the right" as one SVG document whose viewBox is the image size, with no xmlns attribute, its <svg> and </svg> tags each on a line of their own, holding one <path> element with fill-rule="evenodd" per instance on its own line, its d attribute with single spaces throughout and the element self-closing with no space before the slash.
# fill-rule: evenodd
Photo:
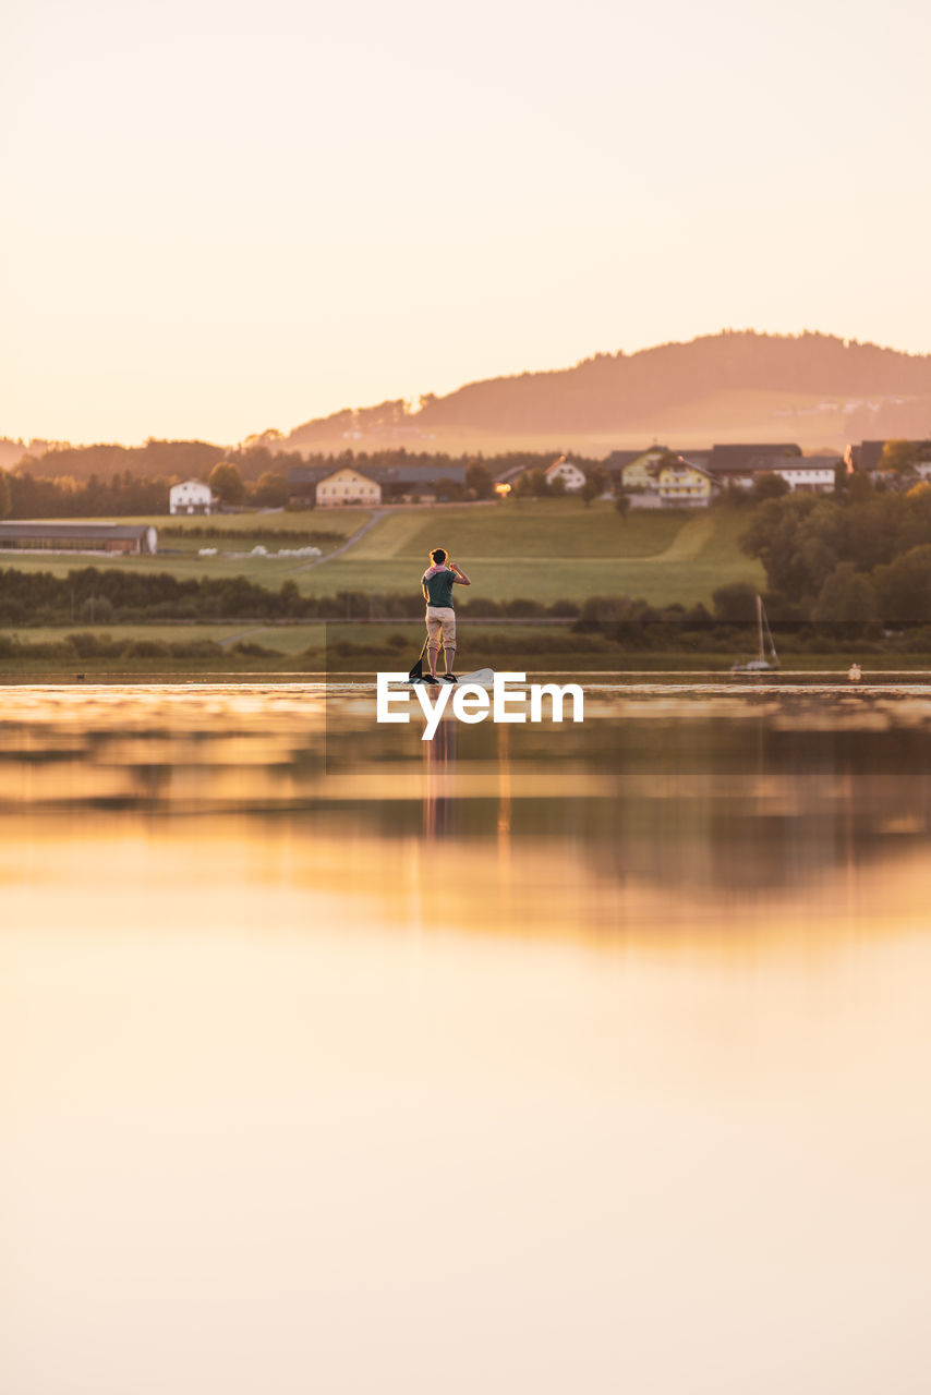
<svg viewBox="0 0 931 1395">
<path fill-rule="evenodd" d="M 801 445 L 931 434 L 931 354 L 833 335 L 724 331 L 574 368 L 470 382 L 447 396 L 346 409 L 306 421 L 272 449 L 409 441 L 424 449 L 544 448 L 603 453 L 628 437 L 708 445 L 777 435 Z M 603 451 L 599 451 L 602 446 Z M 595 449 L 592 449 L 595 448 Z"/>
</svg>

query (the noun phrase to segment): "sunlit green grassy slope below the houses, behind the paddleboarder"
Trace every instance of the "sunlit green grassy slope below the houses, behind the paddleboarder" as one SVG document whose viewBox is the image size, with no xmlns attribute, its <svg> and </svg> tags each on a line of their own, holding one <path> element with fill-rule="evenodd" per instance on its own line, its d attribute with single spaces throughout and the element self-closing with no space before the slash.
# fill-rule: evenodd
<svg viewBox="0 0 931 1395">
<path fill-rule="evenodd" d="M 737 547 L 745 526 L 743 513 L 634 511 L 621 518 L 607 502 L 586 509 L 579 499 L 398 509 L 375 516 L 373 527 L 346 552 L 320 562 L 248 555 L 258 518 L 265 527 L 328 530 L 350 537 L 371 515 L 356 509 L 239 515 L 241 543 L 205 538 L 184 547 L 184 540 L 165 538 L 165 545 L 177 545 L 177 551 L 138 558 L 7 552 L 0 555 L 0 566 L 49 571 L 57 576 L 81 566 L 172 572 L 180 578 L 247 576 L 269 587 L 293 579 L 304 594 L 317 596 L 345 590 L 416 591 L 429 550 L 440 545 L 472 578 L 468 598 L 532 597 L 547 603 L 621 593 L 655 604 L 688 605 L 708 603 L 715 587 L 724 582 L 764 583 L 759 564 Z M 195 526 L 194 520 L 190 526 Z M 216 545 L 218 555 L 200 557 L 200 545 Z M 276 545 L 268 543 L 269 551 Z"/>
</svg>

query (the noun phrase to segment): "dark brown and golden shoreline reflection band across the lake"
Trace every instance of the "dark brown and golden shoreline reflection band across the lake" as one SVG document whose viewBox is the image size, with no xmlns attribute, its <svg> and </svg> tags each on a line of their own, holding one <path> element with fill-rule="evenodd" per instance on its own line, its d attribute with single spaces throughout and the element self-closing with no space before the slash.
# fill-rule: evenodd
<svg viewBox="0 0 931 1395">
<path fill-rule="evenodd" d="M 618 884 L 777 890 L 928 841 L 924 709 L 910 725 L 904 716 L 893 724 L 892 709 L 861 711 L 858 727 L 824 730 L 814 718 L 831 720 L 832 707 L 791 703 L 734 709 L 731 718 L 625 720 L 621 710 L 560 728 L 441 721 L 433 742 L 415 723 L 384 728 L 362 718 L 338 737 L 240 723 L 236 731 L 134 732 L 131 745 L 112 727 L 70 730 L 67 741 L 60 728 L 36 728 L 10 745 L 4 784 L 7 802 L 28 802 L 33 785 L 17 771 L 59 766 L 60 799 L 50 794 L 56 781 L 42 784 L 40 798 L 73 808 L 170 812 L 180 799 L 188 812 L 300 819 L 310 833 L 468 838 L 487 847 L 498 869 L 533 840 L 553 840 L 582 876 L 590 868 Z M 343 771 L 366 777 L 345 795 L 328 783 Z"/>
</svg>

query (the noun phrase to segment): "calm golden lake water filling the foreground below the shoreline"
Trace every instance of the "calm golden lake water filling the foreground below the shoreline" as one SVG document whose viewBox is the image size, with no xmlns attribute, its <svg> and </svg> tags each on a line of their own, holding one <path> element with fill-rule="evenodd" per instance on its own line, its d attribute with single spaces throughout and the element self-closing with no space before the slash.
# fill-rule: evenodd
<svg viewBox="0 0 931 1395">
<path fill-rule="evenodd" d="M 931 688 L 7 688 L 0 1388 L 931 1388 Z"/>
</svg>

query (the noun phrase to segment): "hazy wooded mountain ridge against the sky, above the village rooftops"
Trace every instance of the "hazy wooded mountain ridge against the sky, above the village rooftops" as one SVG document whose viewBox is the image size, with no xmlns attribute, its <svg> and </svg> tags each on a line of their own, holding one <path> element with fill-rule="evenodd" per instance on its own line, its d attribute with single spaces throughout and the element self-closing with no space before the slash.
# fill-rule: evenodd
<svg viewBox="0 0 931 1395">
<path fill-rule="evenodd" d="M 843 424 L 858 427 L 863 434 L 870 427 L 895 434 L 891 428 L 896 421 L 881 420 L 885 414 L 902 418 L 902 434 L 909 430 L 927 434 L 931 354 L 910 354 L 817 331 L 770 335 L 727 329 L 632 354 L 599 353 L 567 368 L 475 379 L 442 396 L 427 393 L 417 407 L 395 399 L 343 409 L 301 423 L 281 437 L 276 446 L 314 449 L 322 439 L 342 438 L 349 445 L 403 432 L 434 439 L 448 431 L 496 439 L 502 434 L 656 434 L 670 417 L 688 417 L 684 409 L 690 405 L 699 409 L 722 393 L 783 395 L 784 409 L 773 407 L 770 420 L 814 416 L 818 400 L 811 399 L 822 398 L 822 414 L 842 418 L 831 421 L 835 432 Z M 899 410 L 891 413 L 891 407 Z M 861 420 L 843 420 L 856 414 Z M 910 425 L 910 417 L 920 423 Z M 719 434 L 726 425 L 720 423 Z M 819 425 L 826 427 L 828 421 Z"/>
</svg>

